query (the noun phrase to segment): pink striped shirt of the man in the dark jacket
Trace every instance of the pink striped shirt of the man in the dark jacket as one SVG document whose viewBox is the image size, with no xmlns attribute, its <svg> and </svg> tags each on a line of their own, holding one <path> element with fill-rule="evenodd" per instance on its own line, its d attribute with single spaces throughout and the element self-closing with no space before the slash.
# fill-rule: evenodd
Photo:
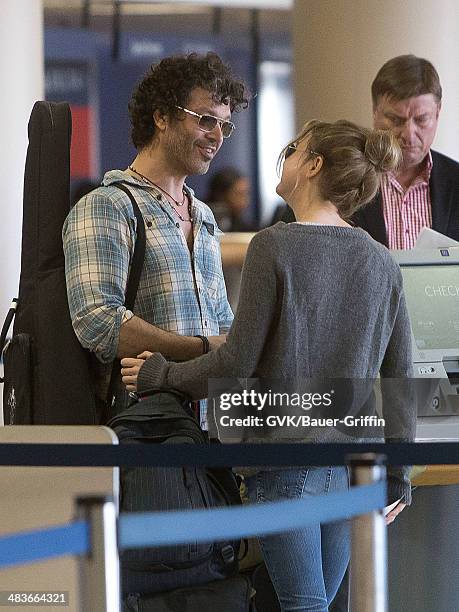
<svg viewBox="0 0 459 612">
<path fill-rule="evenodd" d="M 429 151 L 423 171 L 408 189 L 392 173 L 381 181 L 384 222 L 390 249 L 412 249 L 423 227 L 432 227 L 429 179 L 432 155 Z"/>
</svg>

